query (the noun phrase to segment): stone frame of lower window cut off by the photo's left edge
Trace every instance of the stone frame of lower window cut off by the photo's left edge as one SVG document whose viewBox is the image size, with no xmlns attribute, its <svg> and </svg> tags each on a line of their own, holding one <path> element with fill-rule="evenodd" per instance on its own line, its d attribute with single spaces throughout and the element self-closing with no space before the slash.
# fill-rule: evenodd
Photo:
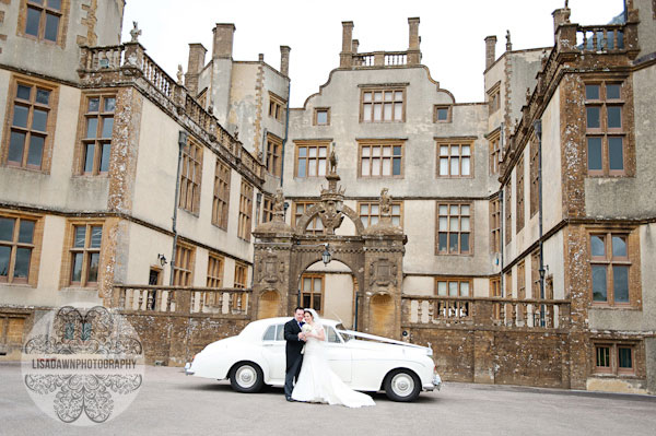
<svg viewBox="0 0 656 436">
<path fill-rule="evenodd" d="M 9 264 L 7 271 L 7 279 L 0 278 L 1 285 L 27 285 L 36 287 L 38 284 L 38 271 L 40 267 L 40 254 L 43 249 L 43 233 L 44 233 L 44 216 L 31 213 L 0 210 L 0 219 L 14 220 L 14 228 L 12 234 L 12 240 L 2 240 L 0 246 L 10 247 Z M 20 223 L 21 221 L 34 222 L 32 229 L 32 243 L 20 243 Z M 25 279 L 16 278 L 13 275 L 15 272 L 15 257 L 19 248 L 30 248 L 30 266 L 27 269 L 27 276 Z"/>
</svg>

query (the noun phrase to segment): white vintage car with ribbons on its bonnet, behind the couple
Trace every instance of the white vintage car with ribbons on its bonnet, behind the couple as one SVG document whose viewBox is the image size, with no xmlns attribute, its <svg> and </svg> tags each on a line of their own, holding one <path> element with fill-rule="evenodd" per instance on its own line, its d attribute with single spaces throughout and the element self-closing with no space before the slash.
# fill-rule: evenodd
<svg viewBox="0 0 656 436">
<path fill-rule="evenodd" d="M 290 318 L 250 322 L 236 337 L 212 342 L 187 363 L 187 375 L 230 379 L 236 391 L 257 392 L 262 386 L 284 386 L 285 341 Z M 440 389 L 430 347 L 343 329 L 321 319 L 326 353 L 332 370 L 352 389 L 385 390 L 394 401 L 412 401 L 422 390 Z"/>
</svg>

